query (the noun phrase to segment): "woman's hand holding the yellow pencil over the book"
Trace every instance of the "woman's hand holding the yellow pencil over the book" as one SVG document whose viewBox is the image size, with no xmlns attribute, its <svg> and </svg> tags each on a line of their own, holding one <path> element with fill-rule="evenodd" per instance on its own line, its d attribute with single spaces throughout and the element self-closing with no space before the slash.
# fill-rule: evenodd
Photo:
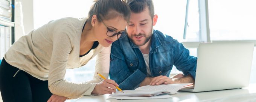
<svg viewBox="0 0 256 102">
<path fill-rule="evenodd" d="M 91 94 L 112 94 L 113 92 L 116 92 L 116 86 L 119 85 L 114 80 L 105 79 L 94 87 L 93 92 L 91 92 Z"/>
</svg>

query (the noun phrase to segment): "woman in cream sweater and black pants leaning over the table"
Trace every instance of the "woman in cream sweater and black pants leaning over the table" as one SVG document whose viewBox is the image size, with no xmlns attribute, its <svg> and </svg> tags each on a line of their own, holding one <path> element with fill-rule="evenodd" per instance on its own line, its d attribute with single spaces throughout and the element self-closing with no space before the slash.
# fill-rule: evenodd
<svg viewBox="0 0 256 102">
<path fill-rule="evenodd" d="M 111 43 L 125 36 L 129 19 L 124 1 L 98 0 L 87 19 L 58 19 L 21 37 L 0 66 L 3 101 L 56 102 L 116 92 L 113 80 L 96 74 L 84 83 L 66 81 L 64 75 L 66 68 L 81 67 L 98 55 L 95 72 L 108 77 Z"/>
</svg>

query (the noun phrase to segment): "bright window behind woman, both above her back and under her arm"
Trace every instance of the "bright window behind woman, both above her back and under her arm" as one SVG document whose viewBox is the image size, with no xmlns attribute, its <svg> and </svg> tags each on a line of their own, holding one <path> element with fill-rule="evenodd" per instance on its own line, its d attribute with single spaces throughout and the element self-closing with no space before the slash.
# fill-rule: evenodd
<svg viewBox="0 0 256 102">
<path fill-rule="evenodd" d="M 87 17 L 92 4 L 93 0 L 34 0 L 34 28 L 64 17 Z M 67 69 L 65 79 L 72 82 L 91 80 L 95 60 L 96 57 L 81 68 Z"/>
</svg>

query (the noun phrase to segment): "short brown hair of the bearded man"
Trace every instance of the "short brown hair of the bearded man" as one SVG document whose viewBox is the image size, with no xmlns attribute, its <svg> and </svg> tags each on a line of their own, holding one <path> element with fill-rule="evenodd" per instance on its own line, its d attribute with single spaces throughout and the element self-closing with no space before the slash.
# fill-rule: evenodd
<svg viewBox="0 0 256 102">
<path fill-rule="evenodd" d="M 154 4 L 152 0 L 126 0 L 131 12 L 140 13 L 145 9 L 149 9 L 149 15 L 153 19 L 155 15 Z"/>
</svg>

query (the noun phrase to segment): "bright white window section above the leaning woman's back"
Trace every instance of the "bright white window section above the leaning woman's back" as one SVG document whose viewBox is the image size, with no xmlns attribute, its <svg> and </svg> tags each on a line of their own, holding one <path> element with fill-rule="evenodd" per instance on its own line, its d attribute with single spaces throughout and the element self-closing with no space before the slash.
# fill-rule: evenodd
<svg viewBox="0 0 256 102">
<path fill-rule="evenodd" d="M 34 0 L 34 28 L 64 17 L 87 17 L 93 0 Z"/>
</svg>

